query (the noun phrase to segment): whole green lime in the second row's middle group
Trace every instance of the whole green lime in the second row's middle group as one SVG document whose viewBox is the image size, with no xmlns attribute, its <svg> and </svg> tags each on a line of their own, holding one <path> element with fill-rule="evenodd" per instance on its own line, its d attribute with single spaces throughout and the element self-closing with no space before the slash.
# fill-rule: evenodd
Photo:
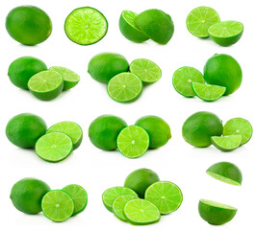
<svg viewBox="0 0 256 230">
<path fill-rule="evenodd" d="M 91 58 L 88 65 L 91 78 L 102 83 L 108 83 L 115 75 L 128 70 L 127 59 L 115 53 L 100 53 Z"/>
</svg>

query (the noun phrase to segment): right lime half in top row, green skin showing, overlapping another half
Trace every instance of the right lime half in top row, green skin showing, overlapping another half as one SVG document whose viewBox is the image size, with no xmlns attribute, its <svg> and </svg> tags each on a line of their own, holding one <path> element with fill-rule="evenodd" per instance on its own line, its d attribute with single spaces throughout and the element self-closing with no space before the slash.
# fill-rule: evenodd
<svg viewBox="0 0 256 230">
<path fill-rule="evenodd" d="M 162 45 L 165 45 L 174 33 L 171 17 L 157 9 L 141 12 L 135 22 L 142 33 Z"/>
</svg>

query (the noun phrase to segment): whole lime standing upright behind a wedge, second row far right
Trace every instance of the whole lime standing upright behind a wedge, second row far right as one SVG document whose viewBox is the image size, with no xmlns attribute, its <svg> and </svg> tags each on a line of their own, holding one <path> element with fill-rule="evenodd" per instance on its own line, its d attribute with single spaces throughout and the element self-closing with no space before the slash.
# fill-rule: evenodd
<svg viewBox="0 0 256 230">
<path fill-rule="evenodd" d="M 204 80 L 209 84 L 226 87 L 224 95 L 234 93 L 242 83 L 239 62 L 229 55 L 215 55 L 204 66 Z"/>
</svg>

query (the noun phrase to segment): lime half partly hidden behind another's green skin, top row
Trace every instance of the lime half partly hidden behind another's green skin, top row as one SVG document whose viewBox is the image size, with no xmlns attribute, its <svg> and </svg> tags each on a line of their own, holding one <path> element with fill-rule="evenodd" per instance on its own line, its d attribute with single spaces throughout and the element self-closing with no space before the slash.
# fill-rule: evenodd
<svg viewBox="0 0 256 230">
<path fill-rule="evenodd" d="M 123 11 L 119 18 L 119 29 L 128 40 L 141 43 L 148 40 L 148 37 L 136 25 L 137 16 L 136 12 Z"/>
</svg>

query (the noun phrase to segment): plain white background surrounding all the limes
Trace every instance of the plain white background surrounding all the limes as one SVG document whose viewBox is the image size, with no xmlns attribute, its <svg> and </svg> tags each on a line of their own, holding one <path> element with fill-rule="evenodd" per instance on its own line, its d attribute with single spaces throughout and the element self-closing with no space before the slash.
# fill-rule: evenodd
<svg viewBox="0 0 256 230">
<path fill-rule="evenodd" d="M 47 12 L 53 22 L 53 33 L 43 43 L 27 47 L 15 42 L 5 29 L 5 17 L 19 5 L 35 5 Z M 239 20 L 244 24 L 242 39 L 232 47 L 224 48 L 210 39 L 199 39 L 187 31 L 186 17 L 193 8 L 213 7 L 222 20 Z M 64 34 L 64 19 L 78 7 L 90 6 L 103 12 L 109 21 L 109 32 L 100 42 L 83 47 L 72 43 Z M 118 18 L 123 10 L 142 12 L 158 8 L 169 13 L 175 25 L 172 39 L 165 46 L 148 41 L 136 44 L 125 39 L 118 30 Z M 1 226 L 5 229 L 248 229 L 255 227 L 255 138 L 229 153 L 213 147 L 195 149 L 182 138 L 181 127 L 192 113 L 206 110 L 218 114 L 225 123 L 234 117 L 243 117 L 255 127 L 255 12 L 253 1 L 243 0 L 9 0 L 0 6 L 0 73 L 1 73 Z M 93 81 L 87 73 L 90 58 L 101 52 L 116 52 L 130 62 L 135 58 L 149 58 L 163 70 L 157 83 L 144 88 L 141 98 L 132 104 L 118 104 L 106 92 L 106 86 Z M 171 84 L 173 72 L 184 65 L 203 70 L 206 60 L 216 53 L 236 58 L 243 67 L 243 84 L 233 95 L 215 103 L 204 103 L 196 98 L 183 98 Z M 15 58 L 33 56 L 47 64 L 63 65 L 81 76 L 80 83 L 51 102 L 42 102 L 29 92 L 13 86 L 7 71 Z M 82 146 L 67 159 L 51 164 L 39 159 L 33 150 L 14 147 L 5 136 L 9 119 L 22 112 L 41 116 L 48 127 L 64 120 L 78 123 L 84 129 Z M 115 114 L 129 125 L 144 115 L 163 117 L 171 127 L 172 138 L 164 148 L 149 150 L 139 159 L 125 158 L 118 151 L 97 150 L 90 144 L 90 122 L 102 114 Z M 205 171 L 218 161 L 237 164 L 243 172 L 243 186 L 221 183 Z M 105 189 L 122 185 L 128 173 L 139 168 L 159 173 L 161 179 L 175 182 L 184 194 L 184 202 L 175 213 L 165 216 L 157 224 L 132 226 L 108 212 L 101 201 Z M 62 189 L 77 183 L 89 193 L 89 204 L 84 213 L 63 223 L 54 223 L 42 214 L 29 216 L 18 212 L 9 198 L 17 180 L 33 176 L 46 181 L 52 189 Z M 211 226 L 200 219 L 197 204 L 200 198 L 213 199 L 238 208 L 235 219 L 224 226 Z"/>
</svg>

